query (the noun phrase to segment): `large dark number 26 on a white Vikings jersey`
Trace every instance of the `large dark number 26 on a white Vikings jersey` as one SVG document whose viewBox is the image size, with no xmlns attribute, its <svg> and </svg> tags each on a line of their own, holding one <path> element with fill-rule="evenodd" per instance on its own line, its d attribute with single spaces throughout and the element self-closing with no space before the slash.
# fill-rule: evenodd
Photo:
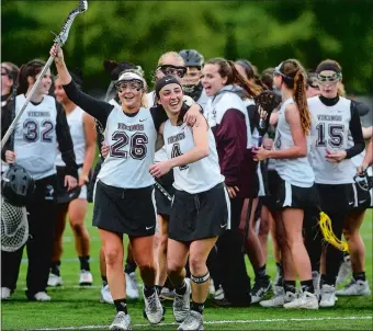
<svg viewBox="0 0 373 331">
<path fill-rule="evenodd" d="M 112 140 L 115 141 L 110 147 L 110 156 L 114 158 L 128 158 L 128 151 L 123 148 L 129 144 L 129 156 L 136 160 L 143 160 L 147 152 L 146 144 L 148 144 L 147 135 L 143 133 L 134 134 L 131 139 L 124 132 L 115 132 L 112 135 Z"/>
</svg>

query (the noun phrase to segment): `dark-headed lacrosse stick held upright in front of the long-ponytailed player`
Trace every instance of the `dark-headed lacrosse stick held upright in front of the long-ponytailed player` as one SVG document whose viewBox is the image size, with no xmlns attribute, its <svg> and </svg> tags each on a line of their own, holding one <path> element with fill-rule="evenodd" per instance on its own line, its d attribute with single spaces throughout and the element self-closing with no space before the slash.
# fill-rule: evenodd
<svg viewBox="0 0 373 331">
<path fill-rule="evenodd" d="M 265 90 L 255 98 L 255 102 L 256 102 L 256 105 L 258 106 L 258 111 L 260 111 L 260 119 L 258 124 L 258 132 L 259 132 L 258 147 L 260 147 L 263 140 L 263 136 L 268 132 L 270 116 L 273 110 L 280 104 L 281 99 L 274 92 Z M 242 247 L 241 247 L 242 253 L 245 253 L 246 251 L 246 241 L 247 241 L 247 237 L 249 232 L 249 222 L 250 222 L 250 216 L 252 212 L 252 203 L 253 203 L 253 198 L 249 198 L 249 206 L 248 206 L 246 219 L 245 219 L 244 239 L 242 239 Z"/>
</svg>

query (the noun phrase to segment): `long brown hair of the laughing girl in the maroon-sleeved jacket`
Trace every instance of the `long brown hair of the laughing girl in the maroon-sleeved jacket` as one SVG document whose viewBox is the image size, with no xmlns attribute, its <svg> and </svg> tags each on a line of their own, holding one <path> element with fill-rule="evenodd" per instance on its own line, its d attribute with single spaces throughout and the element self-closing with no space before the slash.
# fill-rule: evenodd
<svg viewBox="0 0 373 331">
<path fill-rule="evenodd" d="M 251 83 L 250 81 L 245 79 L 241 75 L 239 75 L 235 67 L 234 61 L 217 57 L 208 60 L 205 65 L 218 66 L 219 68 L 218 73 L 221 75 L 221 77 L 227 78 L 226 85 L 236 84 L 241 87 L 246 91 L 247 96 L 249 98 L 255 98 L 262 91 L 262 89 L 259 85 Z"/>
</svg>

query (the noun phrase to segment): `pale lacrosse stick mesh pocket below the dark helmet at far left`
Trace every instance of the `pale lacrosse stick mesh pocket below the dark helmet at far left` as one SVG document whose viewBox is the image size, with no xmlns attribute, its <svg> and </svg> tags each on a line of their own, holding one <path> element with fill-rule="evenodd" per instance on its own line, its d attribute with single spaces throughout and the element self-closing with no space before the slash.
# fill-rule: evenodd
<svg viewBox="0 0 373 331">
<path fill-rule="evenodd" d="M 29 222 L 25 207 L 13 206 L 1 197 L 1 250 L 14 252 L 29 238 Z"/>
</svg>

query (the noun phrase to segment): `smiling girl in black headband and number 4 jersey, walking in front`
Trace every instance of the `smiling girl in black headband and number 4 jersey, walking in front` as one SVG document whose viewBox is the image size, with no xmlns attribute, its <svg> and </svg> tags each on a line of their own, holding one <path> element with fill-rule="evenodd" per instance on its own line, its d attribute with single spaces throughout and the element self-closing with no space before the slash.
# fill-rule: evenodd
<svg viewBox="0 0 373 331">
<path fill-rule="evenodd" d="M 151 166 L 150 173 L 161 176 L 173 169 L 176 187 L 167 255 L 168 276 L 176 287 L 173 315 L 181 322 L 178 330 L 203 330 L 210 283 L 206 260 L 218 236 L 230 228 L 229 198 L 207 122 L 200 114 L 192 128 L 182 123 L 188 106 L 180 82 L 166 76 L 157 81 L 156 94 L 169 118 L 160 128 L 168 160 Z M 191 285 L 185 282 L 188 255 Z"/>
</svg>

